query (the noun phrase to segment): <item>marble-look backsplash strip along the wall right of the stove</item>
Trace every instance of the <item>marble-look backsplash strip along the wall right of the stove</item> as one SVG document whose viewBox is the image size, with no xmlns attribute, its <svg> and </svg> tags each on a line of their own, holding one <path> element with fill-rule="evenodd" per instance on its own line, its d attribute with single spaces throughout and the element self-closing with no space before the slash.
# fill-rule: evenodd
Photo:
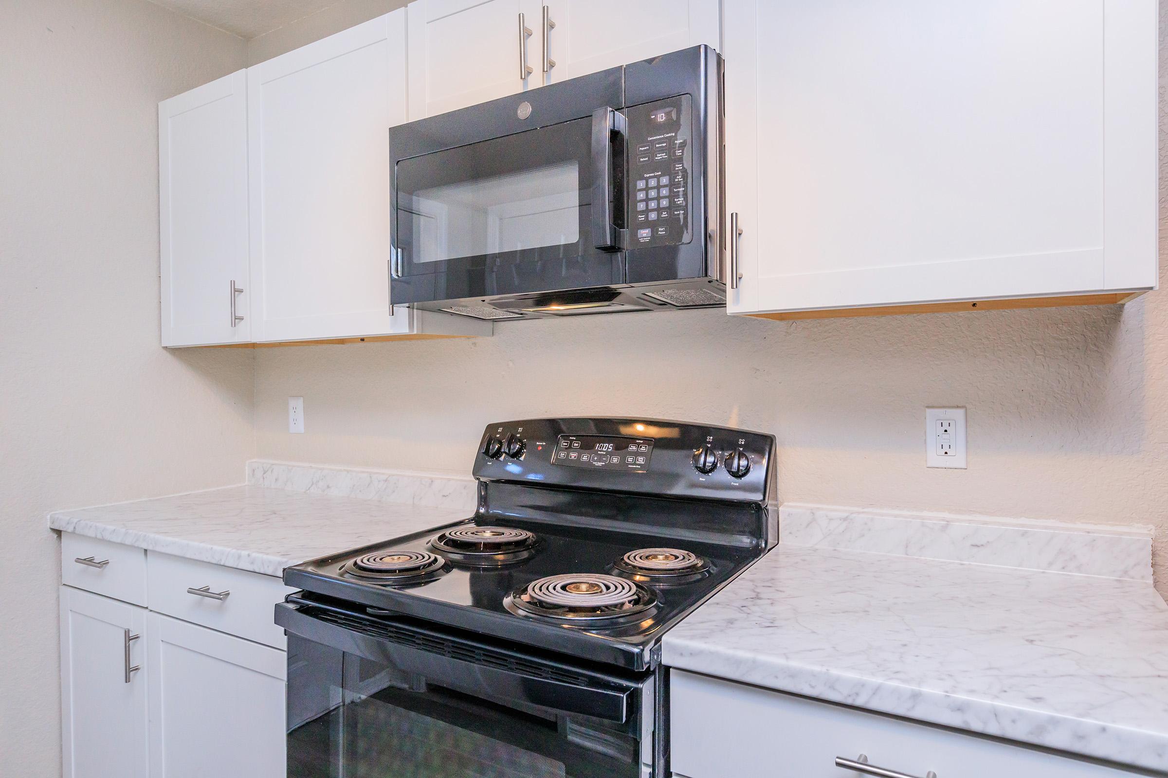
<svg viewBox="0 0 1168 778">
<path fill-rule="evenodd" d="M 1152 528 L 786 503 L 779 542 L 1152 582 Z"/>
</svg>

